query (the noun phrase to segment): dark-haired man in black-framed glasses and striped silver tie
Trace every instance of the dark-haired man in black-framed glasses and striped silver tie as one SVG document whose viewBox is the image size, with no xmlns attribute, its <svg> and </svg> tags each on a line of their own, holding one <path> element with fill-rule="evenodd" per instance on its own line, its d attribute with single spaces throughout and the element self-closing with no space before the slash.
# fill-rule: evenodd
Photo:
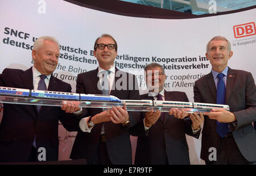
<svg viewBox="0 0 256 176">
<path fill-rule="evenodd" d="M 138 99 L 137 79 L 114 67 L 116 56 L 117 42 L 112 36 L 97 38 L 94 57 L 99 67 L 77 76 L 76 92 Z M 125 106 L 107 111 L 84 109 L 84 118 L 77 121 L 78 133 L 70 158 L 86 158 L 88 164 L 131 164 L 130 127 L 138 122 L 138 114 L 128 113 Z"/>
</svg>

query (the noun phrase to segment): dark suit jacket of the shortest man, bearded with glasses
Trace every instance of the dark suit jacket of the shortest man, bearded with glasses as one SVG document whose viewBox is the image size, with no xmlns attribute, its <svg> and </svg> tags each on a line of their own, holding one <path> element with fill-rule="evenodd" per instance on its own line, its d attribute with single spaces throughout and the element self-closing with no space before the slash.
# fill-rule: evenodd
<svg viewBox="0 0 256 176">
<path fill-rule="evenodd" d="M 164 91 L 166 101 L 186 101 L 185 92 Z M 153 100 L 147 94 L 141 99 Z M 174 115 L 164 113 L 164 121 L 159 118 L 147 131 L 144 130 L 144 112 L 141 113 L 141 121 L 132 128 L 132 135 L 138 136 L 135 164 L 190 164 L 188 144 L 185 134 L 199 138 L 200 131 L 196 135 L 192 132 L 192 121 L 189 118 L 178 119 Z"/>
</svg>

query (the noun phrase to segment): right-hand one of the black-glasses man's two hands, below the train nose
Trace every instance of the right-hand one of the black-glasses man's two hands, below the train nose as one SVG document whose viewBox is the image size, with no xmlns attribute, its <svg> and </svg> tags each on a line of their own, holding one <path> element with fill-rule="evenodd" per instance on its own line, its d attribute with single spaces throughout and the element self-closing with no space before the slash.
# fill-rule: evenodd
<svg viewBox="0 0 256 176">
<path fill-rule="evenodd" d="M 121 108 L 120 106 L 113 106 L 111 111 L 112 117 L 110 117 L 113 123 L 125 123 L 129 120 L 129 114 L 126 110 L 126 104 Z"/>
</svg>

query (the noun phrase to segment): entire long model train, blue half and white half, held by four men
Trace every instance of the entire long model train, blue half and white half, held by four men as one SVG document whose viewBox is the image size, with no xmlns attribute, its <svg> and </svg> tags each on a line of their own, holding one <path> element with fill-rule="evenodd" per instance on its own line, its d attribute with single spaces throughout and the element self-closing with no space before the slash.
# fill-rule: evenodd
<svg viewBox="0 0 256 176">
<path fill-rule="evenodd" d="M 170 108 L 191 108 L 191 109 L 225 109 L 229 110 L 229 105 L 205 104 L 199 102 L 183 101 L 159 101 L 159 100 L 119 100 L 112 95 L 92 95 L 83 93 L 68 93 L 56 91 L 39 91 L 30 89 L 20 89 L 11 87 L 0 87 L 0 96 L 15 96 L 28 98 L 47 98 L 53 100 L 71 101 L 94 101 L 94 102 L 122 102 L 126 106 L 157 106 Z"/>
</svg>

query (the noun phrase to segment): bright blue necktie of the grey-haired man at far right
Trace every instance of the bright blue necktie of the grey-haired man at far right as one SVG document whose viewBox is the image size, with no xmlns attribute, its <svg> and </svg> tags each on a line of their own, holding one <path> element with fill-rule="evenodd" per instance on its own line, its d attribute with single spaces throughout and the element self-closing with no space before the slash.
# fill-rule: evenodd
<svg viewBox="0 0 256 176">
<path fill-rule="evenodd" d="M 225 84 L 223 81 L 224 74 L 218 74 L 218 84 L 217 84 L 217 104 L 224 105 L 225 104 Z M 217 121 L 217 132 L 224 138 L 226 134 L 229 132 L 228 123 L 222 123 Z"/>
</svg>

